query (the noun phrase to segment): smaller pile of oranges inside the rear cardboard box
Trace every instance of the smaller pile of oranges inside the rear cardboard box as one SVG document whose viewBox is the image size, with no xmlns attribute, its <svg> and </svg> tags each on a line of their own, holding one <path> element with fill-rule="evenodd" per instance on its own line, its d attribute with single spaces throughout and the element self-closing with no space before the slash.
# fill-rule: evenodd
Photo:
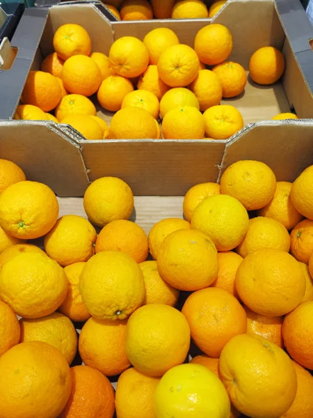
<svg viewBox="0 0 313 418">
<path fill-rule="evenodd" d="M 134 36 L 115 40 L 109 56 L 92 52 L 87 31 L 77 24 L 58 28 L 53 43 L 55 52 L 40 71 L 29 74 L 17 119 L 69 124 L 93 140 L 223 140 L 243 128 L 239 110 L 220 105 L 222 98 L 241 95 L 247 82 L 242 65 L 227 61 L 233 40 L 221 24 L 200 29 L 193 48 L 162 27 L 143 41 Z M 262 47 L 252 55 L 249 70 L 254 82 L 273 84 L 284 72 L 284 56 Z M 95 102 L 98 109 L 115 112 L 110 127 L 99 117 L 101 111 L 97 116 Z"/>
</svg>

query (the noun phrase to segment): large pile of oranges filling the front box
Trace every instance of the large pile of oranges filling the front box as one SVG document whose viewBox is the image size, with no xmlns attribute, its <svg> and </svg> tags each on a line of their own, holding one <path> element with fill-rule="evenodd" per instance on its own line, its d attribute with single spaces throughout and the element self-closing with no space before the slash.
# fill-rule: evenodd
<svg viewBox="0 0 313 418">
<path fill-rule="evenodd" d="M 0 160 L 0 416 L 312 418 L 312 196 L 243 160 L 146 235 L 123 180 L 58 217 Z"/>
</svg>

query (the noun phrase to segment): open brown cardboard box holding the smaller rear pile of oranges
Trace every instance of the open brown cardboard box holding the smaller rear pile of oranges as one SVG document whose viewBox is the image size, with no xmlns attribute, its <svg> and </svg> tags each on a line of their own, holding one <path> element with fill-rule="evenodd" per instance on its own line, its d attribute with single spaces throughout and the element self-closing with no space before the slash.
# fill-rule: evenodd
<svg viewBox="0 0 313 418">
<path fill-rule="evenodd" d="M 29 179 L 46 183 L 58 196 L 82 196 L 90 181 L 102 176 L 123 178 L 137 196 L 182 196 L 192 185 L 218 181 L 225 167 L 241 159 L 262 160 L 278 180 L 293 180 L 313 162 L 313 121 L 269 120 L 290 108 L 300 118 L 313 117 L 313 57 L 308 42 L 312 29 L 298 6 L 298 0 L 233 0 L 213 20 L 142 22 L 109 22 L 100 3 L 63 3 L 49 10 L 26 10 L 12 40 L 13 47 L 19 48 L 17 58 L 10 70 L 0 72 L 2 119 L 13 118 L 28 71 L 40 67 L 42 57 L 52 52 L 54 32 L 68 22 L 84 26 L 93 50 L 106 54 L 115 39 L 125 35 L 142 39 L 159 26 L 175 30 L 181 42 L 192 46 L 199 29 L 218 22 L 232 32 L 233 61 L 248 69 L 257 48 L 273 45 L 282 49 L 287 66 L 282 81 L 274 86 L 257 86 L 249 79 L 241 97 L 227 100 L 242 112 L 247 124 L 227 141 L 86 141 L 65 125 L 1 121 L 0 157 L 19 164 Z M 111 118 L 101 109 L 98 115 L 106 121 Z M 154 199 L 163 203 L 158 206 L 153 201 L 148 213 L 152 216 L 159 211 L 161 217 L 176 201 Z"/>
</svg>

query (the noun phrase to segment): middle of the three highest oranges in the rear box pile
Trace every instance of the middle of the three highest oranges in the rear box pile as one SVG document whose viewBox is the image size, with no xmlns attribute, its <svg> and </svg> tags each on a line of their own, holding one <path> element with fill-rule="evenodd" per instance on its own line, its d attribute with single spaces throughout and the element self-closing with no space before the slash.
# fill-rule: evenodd
<svg viewBox="0 0 313 418">
<path fill-rule="evenodd" d="M 148 32 L 143 43 L 149 52 L 150 64 L 157 65 L 159 58 L 164 49 L 178 45 L 179 39 L 176 33 L 168 28 L 157 28 Z"/>
</svg>

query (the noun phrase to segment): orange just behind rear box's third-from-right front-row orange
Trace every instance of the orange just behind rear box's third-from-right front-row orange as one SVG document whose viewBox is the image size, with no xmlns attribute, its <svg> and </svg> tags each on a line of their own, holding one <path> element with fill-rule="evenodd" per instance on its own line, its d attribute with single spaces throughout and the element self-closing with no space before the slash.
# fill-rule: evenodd
<svg viewBox="0 0 313 418">
<path fill-rule="evenodd" d="M 148 111 L 154 119 L 159 118 L 159 100 L 151 91 L 131 91 L 122 101 L 122 109 L 124 107 L 141 107 Z"/>
</svg>

